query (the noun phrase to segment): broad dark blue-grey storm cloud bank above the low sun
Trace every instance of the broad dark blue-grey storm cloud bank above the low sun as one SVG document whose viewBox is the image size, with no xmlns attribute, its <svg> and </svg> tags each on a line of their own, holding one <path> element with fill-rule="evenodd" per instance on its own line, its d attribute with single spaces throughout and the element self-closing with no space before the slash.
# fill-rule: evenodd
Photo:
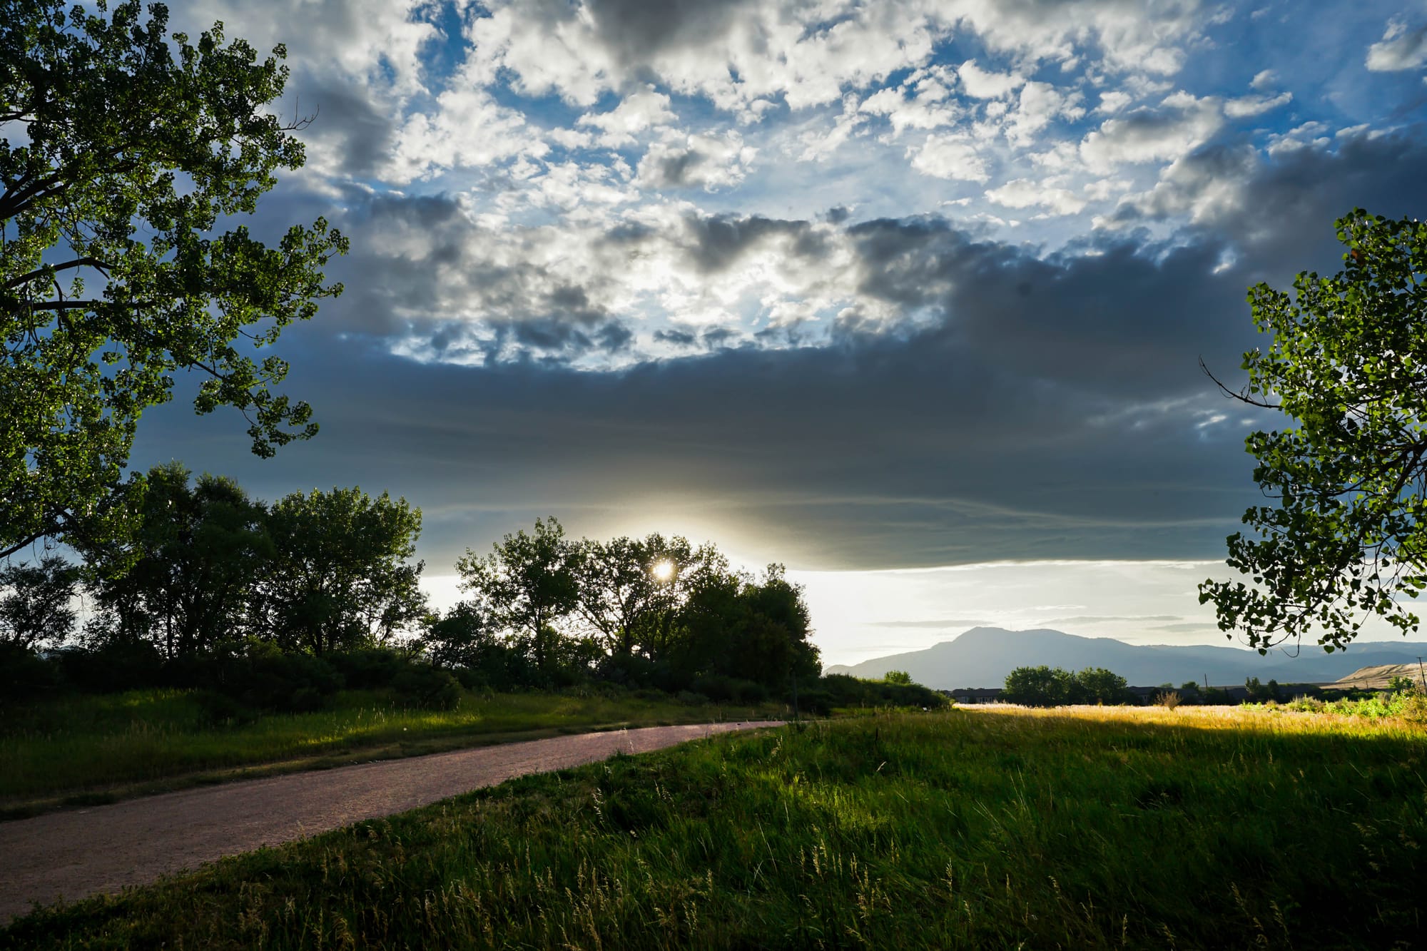
<svg viewBox="0 0 1427 951">
<path fill-rule="evenodd" d="M 194 424 L 174 406 L 146 420 L 137 460 L 178 456 L 267 497 L 390 488 L 425 510 L 432 570 L 535 515 L 598 534 L 629 513 L 692 513 L 722 538 L 801 567 L 1219 558 L 1260 497 L 1243 407 L 1212 388 L 1197 358 L 1239 364 L 1251 343 L 1250 278 L 1286 286 L 1299 268 L 1336 270 L 1336 214 L 1354 204 L 1421 214 L 1424 158 L 1406 139 L 1284 156 L 1254 171 L 1241 207 L 1177 244 L 1116 233 L 1042 258 L 940 218 L 856 224 L 860 293 L 920 321 L 832 346 L 745 341 L 621 373 L 538 360 L 428 366 L 384 353 L 372 334 L 332 333 L 348 320 L 407 318 L 324 313 L 283 344 L 287 390 L 314 404 L 317 440 L 254 463 L 240 421 Z M 482 300 L 532 293 L 529 323 L 505 333 L 549 353 L 626 340 L 609 323 L 619 316 L 579 288 L 482 270 L 454 203 L 391 198 L 358 214 L 388 238 L 421 237 L 382 244 L 407 248 L 390 260 L 357 244 L 348 263 L 390 284 L 362 306 L 420 303 L 455 278 Z M 691 267 L 716 271 L 803 227 L 704 220 L 689 231 L 699 236 Z M 1223 266 L 1226 254 L 1237 261 Z"/>
</svg>

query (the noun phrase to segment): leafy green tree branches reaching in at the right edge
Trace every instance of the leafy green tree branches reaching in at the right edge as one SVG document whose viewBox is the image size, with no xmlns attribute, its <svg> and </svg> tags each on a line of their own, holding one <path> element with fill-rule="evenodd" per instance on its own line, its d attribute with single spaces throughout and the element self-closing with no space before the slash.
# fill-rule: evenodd
<svg viewBox="0 0 1427 951">
<path fill-rule="evenodd" d="M 1246 440 L 1273 500 L 1229 535 L 1227 563 L 1251 584 L 1199 587 L 1259 653 L 1314 630 L 1331 651 L 1373 615 L 1406 634 L 1418 618 L 1400 597 L 1427 587 L 1427 223 L 1357 208 L 1336 224 L 1343 271 L 1300 273 L 1293 296 L 1250 288 L 1271 341 L 1226 390 L 1289 421 Z"/>
</svg>

